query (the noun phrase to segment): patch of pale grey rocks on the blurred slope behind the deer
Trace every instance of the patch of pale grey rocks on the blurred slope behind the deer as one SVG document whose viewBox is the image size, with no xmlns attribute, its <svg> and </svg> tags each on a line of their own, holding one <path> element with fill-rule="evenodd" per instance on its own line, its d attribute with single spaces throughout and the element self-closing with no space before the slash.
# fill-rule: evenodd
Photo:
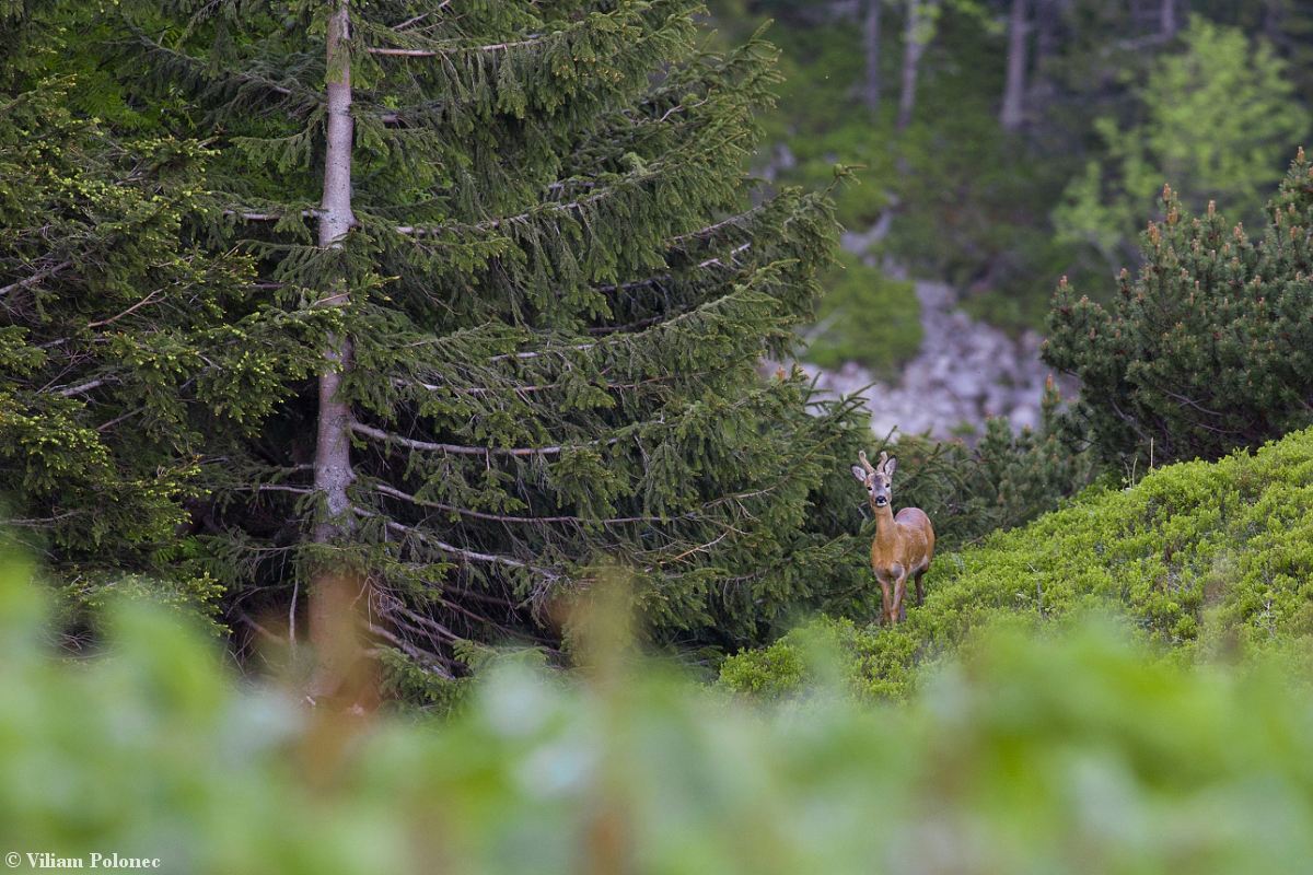
<svg viewBox="0 0 1313 875">
<path fill-rule="evenodd" d="M 871 428 L 880 437 L 897 429 L 928 432 L 936 438 L 961 433 L 962 425 L 983 432 L 985 420 L 1007 416 L 1012 429 L 1040 422 L 1044 382 L 1052 369 L 1040 361 L 1041 337 L 1025 332 L 1008 337 L 956 308 L 957 295 L 939 282 L 918 281 L 920 352 L 894 383 L 874 382 L 865 367 L 848 362 L 835 371 L 801 363 L 817 387 L 834 395 L 861 395 L 871 411 Z M 1054 374 L 1057 379 L 1058 375 Z M 1075 395 L 1075 383 L 1060 379 L 1062 396 Z"/>
</svg>

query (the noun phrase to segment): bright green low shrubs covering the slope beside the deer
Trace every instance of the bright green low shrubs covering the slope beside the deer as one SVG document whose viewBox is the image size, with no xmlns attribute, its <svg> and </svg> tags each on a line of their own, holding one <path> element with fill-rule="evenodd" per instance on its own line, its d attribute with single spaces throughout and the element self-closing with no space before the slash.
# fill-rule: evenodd
<svg viewBox="0 0 1313 875">
<path fill-rule="evenodd" d="M 926 584 L 924 606 L 897 628 L 818 621 L 727 660 L 721 680 L 765 695 L 797 690 L 819 635 L 844 655 L 860 694 L 901 695 L 918 665 L 993 622 L 1041 626 L 1109 606 L 1183 660 L 1296 651 L 1313 634 L 1313 429 L 1087 492 L 939 556 Z"/>
</svg>

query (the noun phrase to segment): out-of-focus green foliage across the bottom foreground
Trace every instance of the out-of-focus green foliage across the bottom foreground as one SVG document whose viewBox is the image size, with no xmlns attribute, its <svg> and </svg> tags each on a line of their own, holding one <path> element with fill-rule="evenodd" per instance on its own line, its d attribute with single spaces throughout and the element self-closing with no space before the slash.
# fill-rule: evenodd
<svg viewBox="0 0 1313 875">
<path fill-rule="evenodd" d="M 0 568 L 0 853 L 223 875 L 1313 859 L 1313 697 L 1274 655 L 1191 668 L 1116 623 L 995 628 L 901 704 L 822 685 L 762 706 L 613 643 L 569 677 L 503 665 L 429 723 L 238 682 L 142 602 L 102 655 L 62 659 L 28 576 Z"/>
</svg>

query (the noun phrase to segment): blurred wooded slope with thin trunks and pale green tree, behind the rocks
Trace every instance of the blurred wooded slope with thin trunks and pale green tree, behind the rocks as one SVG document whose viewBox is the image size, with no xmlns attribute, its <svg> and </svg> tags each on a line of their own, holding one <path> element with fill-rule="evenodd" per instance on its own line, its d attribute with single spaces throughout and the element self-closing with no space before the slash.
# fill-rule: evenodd
<svg viewBox="0 0 1313 875">
<path fill-rule="evenodd" d="M 780 101 L 754 167 L 836 194 L 846 270 L 809 356 L 895 374 L 919 341 L 899 279 L 1044 328 L 1060 277 L 1098 300 L 1165 211 L 1216 201 L 1259 227 L 1309 132 L 1313 8 L 1299 0 L 722 1 L 729 39 L 771 20 Z"/>
</svg>

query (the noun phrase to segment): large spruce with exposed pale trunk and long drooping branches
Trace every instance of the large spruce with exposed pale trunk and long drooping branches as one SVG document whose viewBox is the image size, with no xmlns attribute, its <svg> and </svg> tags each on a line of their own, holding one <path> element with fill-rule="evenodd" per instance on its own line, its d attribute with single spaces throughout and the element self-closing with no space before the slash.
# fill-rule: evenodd
<svg viewBox="0 0 1313 875">
<path fill-rule="evenodd" d="M 700 49 L 699 12 L 116 13 L 123 81 L 184 94 L 221 153 L 211 245 L 249 253 L 259 307 L 322 357 L 210 447 L 197 525 L 244 610 L 309 592 L 314 619 L 316 580 L 356 568 L 374 641 L 450 677 L 469 643 L 555 647 L 551 606 L 603 558 L 659 641 L 733 647 L 864 596 L 852 521 L 811 505 L 853 408 L 756 374 L 811 312 L 831 209 L 744 177 L 773 51 Z"/>
</svg>

